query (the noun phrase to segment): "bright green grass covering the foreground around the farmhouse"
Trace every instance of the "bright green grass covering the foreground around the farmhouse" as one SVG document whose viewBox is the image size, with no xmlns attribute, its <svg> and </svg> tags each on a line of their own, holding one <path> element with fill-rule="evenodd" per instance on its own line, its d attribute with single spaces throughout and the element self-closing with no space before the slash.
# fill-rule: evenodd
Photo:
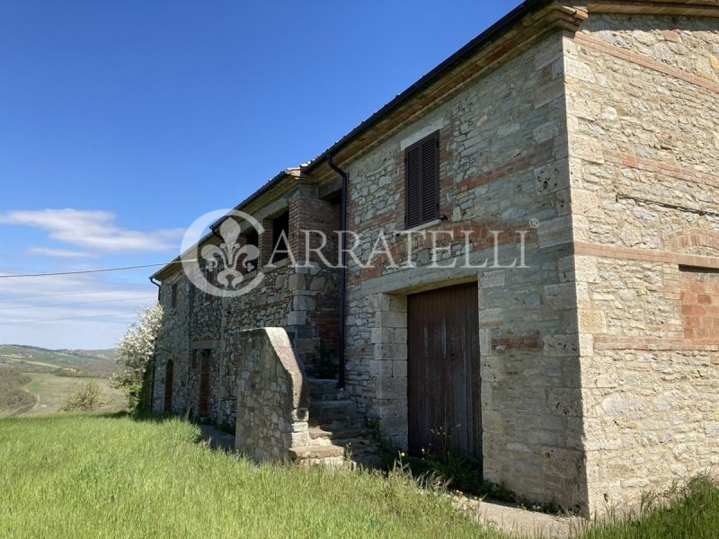
<svg viewBox="0 0 719 539">
<path fill-rule="evenodd" d="M 404 473 L 254 465 L 210 451 L 181 420 L 52 414 L 0 420 L 0 537 L 486 537 Z M 719 489 L 581 539 L 709 539 Z"/>
</svg>

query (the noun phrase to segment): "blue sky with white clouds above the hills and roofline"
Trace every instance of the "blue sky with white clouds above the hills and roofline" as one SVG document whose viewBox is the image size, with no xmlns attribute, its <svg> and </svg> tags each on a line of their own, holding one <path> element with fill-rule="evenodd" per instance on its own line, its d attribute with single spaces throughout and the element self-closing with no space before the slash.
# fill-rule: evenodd
<svg viewBox="0 0 719 539">
<path fill-rule="evenodd" d="M 517 4 L 4 0 L 0 275 L 170 260 Z M 0 343 L 112 347 L 152 272 L 0 278 Z"/>
</svg>

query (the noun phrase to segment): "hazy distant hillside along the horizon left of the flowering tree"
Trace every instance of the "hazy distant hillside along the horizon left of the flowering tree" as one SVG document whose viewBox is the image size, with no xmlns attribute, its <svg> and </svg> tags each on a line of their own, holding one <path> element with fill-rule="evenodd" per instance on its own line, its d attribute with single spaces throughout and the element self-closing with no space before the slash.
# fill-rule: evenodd
<svg viewBox="0 0 719 539">
<path fill-rule="evenodd" d="M 49 350 L 22 344 L 0 344 L 0 365 L 40 372 L 65 369 L 68 375 L 111 376 L 117 368 L 116 355 L 115 349 Z"/>
</svg>

